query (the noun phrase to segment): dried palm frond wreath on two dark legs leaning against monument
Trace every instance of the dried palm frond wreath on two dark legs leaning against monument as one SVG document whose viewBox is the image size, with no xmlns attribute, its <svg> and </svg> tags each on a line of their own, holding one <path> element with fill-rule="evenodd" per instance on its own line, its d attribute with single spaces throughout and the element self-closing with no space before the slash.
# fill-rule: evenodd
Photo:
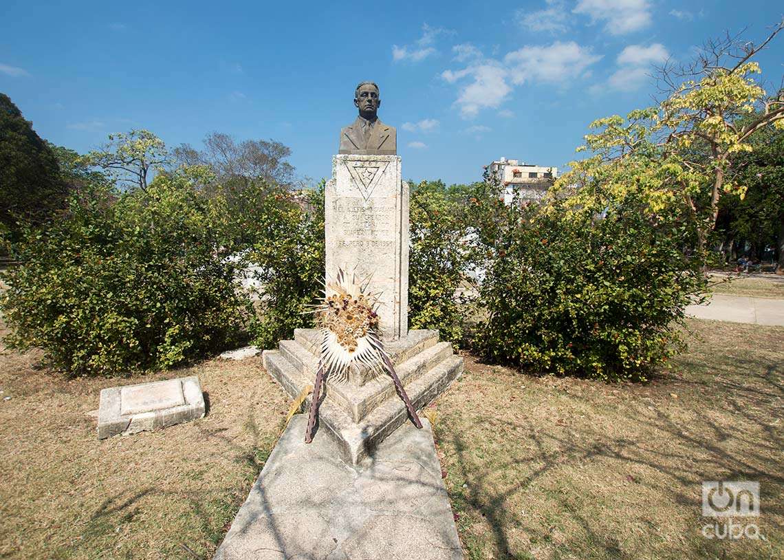
<svg viewBox="0 0 784 560">
<path fill-rule="evenodd" d="M 397 378 L 379 332 L 378 296 L 368 293 L 368 282 L 358 282 L 356 275 L 347 280 L 342 269 L 335 282 L 327 282 L 325 299 L 316 306 L 316 323 L 321 331 L 321 356 L 310 402 L 305 442 L 313 441 L 321 384 L 326 378 L 344 382 L 352 365 L 363 365 L 372 372 L 387 373 L 397 395 L 408 410 L 416 427 L 422 427 L 416 410 Z"/>
</svg>

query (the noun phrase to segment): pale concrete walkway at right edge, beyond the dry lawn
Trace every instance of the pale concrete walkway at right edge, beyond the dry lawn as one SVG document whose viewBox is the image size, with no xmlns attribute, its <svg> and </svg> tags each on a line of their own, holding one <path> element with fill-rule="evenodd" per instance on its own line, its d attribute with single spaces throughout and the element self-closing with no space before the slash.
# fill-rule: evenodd
<svg viewBox="0 0 784 560">
<path fill-rule="evenodd" d="M 784 300 L 714 294 L 707 304 L 686 307 L 686 315 L 713 321 L 784 326 Z"/>
</svg>

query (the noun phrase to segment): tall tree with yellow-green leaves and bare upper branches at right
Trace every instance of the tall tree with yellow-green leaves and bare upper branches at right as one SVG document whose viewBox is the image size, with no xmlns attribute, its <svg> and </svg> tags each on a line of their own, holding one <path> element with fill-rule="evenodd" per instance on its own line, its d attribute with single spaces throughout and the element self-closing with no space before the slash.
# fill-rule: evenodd
<svg viewBox="0 0 784 560">
<path fill-rule="evenodd" d="M 738 37 L 709 42 L 688 67 L 664 67 L 666 98 L 625 119 L 613 115 L 591 123 L 597 132 L 586 135 L 579 150 L 593 155 L 572 162 L 554 193 L 591 186 L 575 197 L 575 210 L 601 213 L 608 200 L 639 192 L 652 219 L 668 209 L 695 224 L 704 260 L 720 196 L 744 191 L 728 173 L 732 156 L 753 152 L 752 140 L 765 127 L 784 127 L 784 91 L 768 96 L 755 78 L 760 67 L 750 60 L 782 29 L 784 22 L 759 45 Z"/>
</svg>

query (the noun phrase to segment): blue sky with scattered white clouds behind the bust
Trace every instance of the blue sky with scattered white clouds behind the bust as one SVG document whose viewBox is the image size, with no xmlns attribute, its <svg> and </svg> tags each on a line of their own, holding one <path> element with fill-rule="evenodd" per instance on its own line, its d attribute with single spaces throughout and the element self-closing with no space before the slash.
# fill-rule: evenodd
<svg viewBox="0 0 784 560">
<path fill-rule="evenodd" d="M 780 0 L 4 0 L 0 92 L 82 153 L 133 128 L 171 147 L 216 130 L 279 140 L 318 180 L 369 79 L 404 176 L 470 182 L 500 156 L 563 167 L 588 122 L 650 104 L 652 64 L 725 30 L 758 41 L 782 14 Z M 779 85 L 784 35 L 758 60 Z"/>
</svg>

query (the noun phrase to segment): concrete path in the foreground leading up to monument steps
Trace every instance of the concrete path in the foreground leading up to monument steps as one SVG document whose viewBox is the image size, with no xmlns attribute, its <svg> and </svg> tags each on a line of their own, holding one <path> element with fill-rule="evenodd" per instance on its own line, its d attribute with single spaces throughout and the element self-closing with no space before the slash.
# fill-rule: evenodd
<svg viewBox="0 0 784 560">
<path fill-rule="evenodd" d="M 405 424 L 357 467 L 294 416 L 216 560 L 463 558 L 430 424 Z"/>
</svg>

